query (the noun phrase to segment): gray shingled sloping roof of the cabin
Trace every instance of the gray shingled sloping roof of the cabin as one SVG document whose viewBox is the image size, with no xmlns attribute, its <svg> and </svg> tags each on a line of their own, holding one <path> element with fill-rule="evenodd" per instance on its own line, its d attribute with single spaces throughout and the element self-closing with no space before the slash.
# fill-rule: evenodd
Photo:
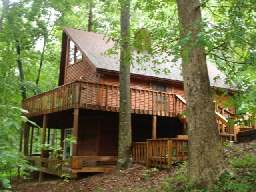
<svg viewBox="0 0 256 192">
<path fill-rule="evenodd" d="M 119 53 L 118 55 L 113 55 L 111 57 L 102 56 L 103 52 L 106 52 L 106 50 L 114 46 L 114 41 L 112 40 L 106 43 L 106 41 L 108 40 L 108 36 L 86 30 L 74 29 L 69 27 L 63 28 L 69 38 L 90 59 L 92 64 L 94 64 L 97 69 L 111 70 L 116 72 L 119 71 Z M 163 57 L 164 55 L 162 55 L 162 58 Z M 171 62 L 171 60 L 173 59 L 171 56 L 167 56 L 167 58 L 168 60 L 170 60 L 170 62 L 160 64 L 156 67 L 161 70 L 163 70 L 164 68 L 168 68 L 171 71 L 168 74 L 164 74 L 163 72 L 160 72 L 160 74 L 156 74 L 156 72 L 154 72 L 154 70 L 152 70 L 151 68 L 151 66 L 154 66 L 151 61 L 143 63 L 143 65 L 146 66 L 145 70 L 139 70 L 141 69 L 141 65 L 134 62 L 134 68 L 131 67 L 131 74 L 182 82 L 183 77 L 180 70 L 181 60 L 178 60 L 176 63 L 174 63 Z M 220 72 L 220 70 L 218 70 L 209 62 L 207 63 L 207 67 L 211 86 L 234 90 L 234 88 L 230 88 L 228 85 L 225 84 L 226 76 L 222 72 Z M 216 76 L 220 76 L 220 79 L 217 81 L 214 80 Z"/>
</svg>

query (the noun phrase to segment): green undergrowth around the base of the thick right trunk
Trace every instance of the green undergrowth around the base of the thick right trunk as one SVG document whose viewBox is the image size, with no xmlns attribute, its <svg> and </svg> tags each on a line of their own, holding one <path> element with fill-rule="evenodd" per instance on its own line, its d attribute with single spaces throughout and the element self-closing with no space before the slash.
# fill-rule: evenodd
<svg viewBox="0 0 256 192">
<path fill-rule="evenodd" d="M 249 148 L 232 147 L 233 152 L 228 155 L 230 164 L 233 166 L 235 176 L 222 174 L 220 180 L 214 185 L 214 192 L 255 192 L 256 191 L 256 155 L 250 153 L 256 145 Z M 180 164 L 174 176 L 162 181 L 162 192 L 175 191 L 176 188 L 186 181 L 187 162 Z M 186 183 L 185 186 L 190 186 Z M 184 192 L 208 192 L 203 189 L 184 190 Z"/>
</svg>

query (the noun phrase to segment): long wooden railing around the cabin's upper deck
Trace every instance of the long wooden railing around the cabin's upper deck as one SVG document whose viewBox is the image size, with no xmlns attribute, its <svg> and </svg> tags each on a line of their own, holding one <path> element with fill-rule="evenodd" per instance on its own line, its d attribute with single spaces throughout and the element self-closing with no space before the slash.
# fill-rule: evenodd
<svg viewBox="0 0 256 192">
<path fill-rule="evenodd" d="M 186 104 L 175 94 L 130 89 L 132 113 L 176 116 Z M 119 86 L 75 81 L 22 101 L 27 116 L 37 116 L 71 108 L 119 110 Z"/>
</svg>

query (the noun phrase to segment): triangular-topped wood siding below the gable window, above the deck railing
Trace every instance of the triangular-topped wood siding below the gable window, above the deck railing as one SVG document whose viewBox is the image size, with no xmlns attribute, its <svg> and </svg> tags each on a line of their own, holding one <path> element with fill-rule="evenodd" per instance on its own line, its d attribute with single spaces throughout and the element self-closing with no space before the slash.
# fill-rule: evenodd
<svg viewBox="0 0 256 192">
<path fill-rule="evenodd" d="M 82 79 L 80 79 L 82 77 Z M 94 71 L 86 57 L 82 57 L 82 60 L 66 66 L 66 81 L 70 83 L 75 80 L 83 80 L 87 82 L 99 82 L 99 75 Z"/>
</svg>

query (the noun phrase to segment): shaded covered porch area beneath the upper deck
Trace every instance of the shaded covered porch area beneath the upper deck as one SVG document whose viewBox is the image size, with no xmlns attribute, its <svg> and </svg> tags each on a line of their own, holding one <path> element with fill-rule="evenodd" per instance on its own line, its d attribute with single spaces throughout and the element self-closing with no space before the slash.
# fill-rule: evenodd
<svg viewBox="0 0 256 192">
<path fill-rule="evenodd" d="M 80 173 L 114 170 L 118 156 L 118 112 L 74 108 L 30 120 L 38 127 L 24 125 L 21 151 L 38 168 L 39 182 L 43 181 L 44 173 L 74 182 Z M 178 118 L 132 114 L 134 144 L 184 132 L 185 126 Z M 74 137 L 76 142 L 72 142 Z"/>
</svg>

